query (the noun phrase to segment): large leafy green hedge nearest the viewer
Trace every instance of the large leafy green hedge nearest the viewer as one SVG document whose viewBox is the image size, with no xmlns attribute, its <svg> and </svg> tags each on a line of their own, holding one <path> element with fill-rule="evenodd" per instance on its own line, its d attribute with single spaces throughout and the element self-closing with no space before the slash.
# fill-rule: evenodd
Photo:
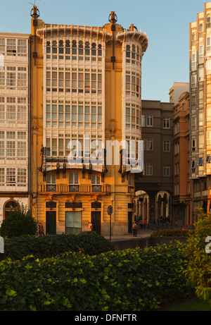
<svg viewBox="0 0 211 325">
<path fill-rule="evenodd" d="M 0 262 L 1 311 L 139 311 L 184 298 L 176 245 Z"/>
</svg>

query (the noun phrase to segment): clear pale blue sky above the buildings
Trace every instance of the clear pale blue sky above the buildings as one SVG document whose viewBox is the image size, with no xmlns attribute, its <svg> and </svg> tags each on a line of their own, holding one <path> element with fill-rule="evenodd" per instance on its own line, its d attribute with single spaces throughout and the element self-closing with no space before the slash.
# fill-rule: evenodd
<svg viewBox="0 0 211 325">
<path fill-rule="evenodd" d="M 30 34 L 34 0 L 0 0 L 0 32 Z M 146 32 L 142 60 L 142 99 L 169 102 L 174 82 L 189 82 L 189 23 L 203 11 L 203 0 L 36 0 L 45 23 L 103 27 L 111 11 L 117 24 Z"/>
</svg>

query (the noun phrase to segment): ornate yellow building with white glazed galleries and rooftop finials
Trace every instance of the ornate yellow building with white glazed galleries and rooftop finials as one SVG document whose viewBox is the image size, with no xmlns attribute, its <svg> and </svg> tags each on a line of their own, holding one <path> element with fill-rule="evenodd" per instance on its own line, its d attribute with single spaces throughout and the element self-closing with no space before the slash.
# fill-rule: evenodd
<svg viewBox="0 0 211 325">
<path fill-rule="evenodd" d="M 134 173 L 121 142 L 133 140 L 131 152 L 139 156 L 148 37 L 134 25 L 118 25 L 114 12 L 109 18 L 103 27 L 46 24 L 32 9 L 30 202 L 46 233 L 87 231 L 91 221 L 94 231 L 108 235 L 109 205 L 113 235 L 132 226 Z M 75 143 L 80 150 L 74 147 L 70 164 Z"/>
</svg>

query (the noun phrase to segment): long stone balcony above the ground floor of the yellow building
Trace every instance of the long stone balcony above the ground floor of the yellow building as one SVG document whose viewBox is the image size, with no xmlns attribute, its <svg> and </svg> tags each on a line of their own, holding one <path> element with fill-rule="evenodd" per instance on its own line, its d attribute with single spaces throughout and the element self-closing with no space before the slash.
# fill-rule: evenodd
<svg viewBox="0 0 211 325">
<path fill-rule="evenodd" d="M 107 195 L 110 192 L 110 185 L 108 184 L 39 184 L 40 194 L 73 194 L 79 193 L 82 195 L 89 195 L 90 193 L 101 193 Z"/>
</svg>

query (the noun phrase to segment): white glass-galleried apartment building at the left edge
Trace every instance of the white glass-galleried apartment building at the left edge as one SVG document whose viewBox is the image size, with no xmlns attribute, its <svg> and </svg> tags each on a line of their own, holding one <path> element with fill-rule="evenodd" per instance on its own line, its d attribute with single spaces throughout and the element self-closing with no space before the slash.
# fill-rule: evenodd
<svg viewBox="0 0 211 325">
<path fill-rule="evenodd" d="M 29 204 L 29 37 L 0 33 L 0 223 Z"/>
</svg>

